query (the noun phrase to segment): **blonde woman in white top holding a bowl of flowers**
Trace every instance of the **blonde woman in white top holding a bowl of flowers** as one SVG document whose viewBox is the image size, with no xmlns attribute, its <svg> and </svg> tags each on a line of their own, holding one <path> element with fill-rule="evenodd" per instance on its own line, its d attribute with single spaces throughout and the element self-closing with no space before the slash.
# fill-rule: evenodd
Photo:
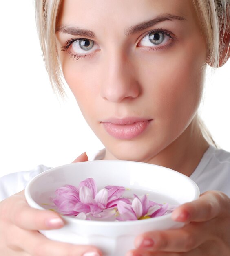
<svg viewBox="0 0 230 256">
<path fill-rule="evenodd" d="M 105 146 L 97 159 L 166 166 L 204 192 L 174 211 L 183 228 L 140 235 L 129 256 L 230 254 L 230 153 L 210 146 L 197 115 L 206 66 L 230 55 L 229 8 L 229 0 L 36 1 L 51 83 L 62 94 L 63 73 Z M 1 202 L 0 216 L 4 255 L 102 255 L 38 233 L 64 223 L 28 207 L 23 192 Z"/>
</svg>

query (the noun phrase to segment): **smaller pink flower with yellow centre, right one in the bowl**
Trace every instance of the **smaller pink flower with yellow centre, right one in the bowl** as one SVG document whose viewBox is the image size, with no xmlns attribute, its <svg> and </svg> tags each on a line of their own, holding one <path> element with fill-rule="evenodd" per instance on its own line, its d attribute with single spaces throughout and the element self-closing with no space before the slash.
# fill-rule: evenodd
<svg viewBox="0 0 230 256">
<path fill-rule="evenodd" d="M 143 220 L 151 218 L 155 212 L 161 209 L 159 205 L 150 206 L 146 195 L 143 195 L 141 198 L 137 195 L 134 196 L 132 204 L 127 204 L 124 201 L 117 203 L 119 212 L 117 220 Z"/>
</svg>

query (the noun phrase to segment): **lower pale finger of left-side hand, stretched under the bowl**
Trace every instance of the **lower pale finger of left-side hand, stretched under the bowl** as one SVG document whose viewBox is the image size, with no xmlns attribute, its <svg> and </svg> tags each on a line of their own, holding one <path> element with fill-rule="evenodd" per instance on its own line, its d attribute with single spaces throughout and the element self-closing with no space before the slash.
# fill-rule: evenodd
<svg viewBox="0 0 230 256">
<path fill-rule="evenodd" d="M 23 239 L 22 239 L 23 238 Z M 28 243 L 29 241 L 29 243 Z M 102 253 L 94 246 L 73 245 L 47 239 L 38 231 L 18 229 L 17 240 L 20 248 L 33 256 L 101 256 Z"/>
</svg>

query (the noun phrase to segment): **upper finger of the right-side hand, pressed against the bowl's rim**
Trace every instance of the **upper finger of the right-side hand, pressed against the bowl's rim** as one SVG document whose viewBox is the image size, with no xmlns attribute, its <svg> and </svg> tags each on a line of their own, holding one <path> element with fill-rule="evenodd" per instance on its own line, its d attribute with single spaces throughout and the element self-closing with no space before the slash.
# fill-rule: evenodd
<svg viewBox="0 0 230 256">
<path fill-rule="evenodd" d="M 199 199 L 182 204 L 172 214 L 172 218 L 179 222 L 202 222 L 217 217 L 227 208 L 229 198 L 219 191 L 203 193 Z"/>
</svg>

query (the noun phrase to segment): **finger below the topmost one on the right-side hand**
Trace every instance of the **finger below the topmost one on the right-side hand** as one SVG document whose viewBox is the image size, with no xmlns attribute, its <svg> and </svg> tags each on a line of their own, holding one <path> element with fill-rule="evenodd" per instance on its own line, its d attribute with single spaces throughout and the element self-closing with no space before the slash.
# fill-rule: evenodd
<svg viewBox="0 0 230 256">
<path fill-rule="evenodd" d="M 209 233 L 208 224 L 192 222 L 181 229 L 154 231 L 137 236 L 135 247 L 151 251 L 188 252 L 208 240 Z"/>
</svg>

